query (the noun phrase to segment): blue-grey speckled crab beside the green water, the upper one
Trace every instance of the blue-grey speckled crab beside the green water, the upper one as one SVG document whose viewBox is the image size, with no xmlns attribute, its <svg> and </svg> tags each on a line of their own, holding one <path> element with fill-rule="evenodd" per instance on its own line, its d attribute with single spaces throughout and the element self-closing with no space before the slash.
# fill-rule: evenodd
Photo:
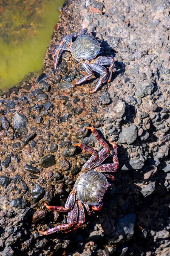
<svg viewBox="0 0 170 256">
<path fill-rule="evenodd" d="M 61 50 L 70 51 L 73 57 L 82 63 L 82 67 L 88 73 L 88 75 L 76 81 L 74 84 L 83 83 L 93 75 L 94 71 L 99 73 L 99 81 L 96 83 L 94 90 L 90 92 L 94 93 L 99 86 L 106 81 L 107 78 L 108 83 L 111 81 L 115 61 L 112 55 L 100 56 L 96 58 L 97 55 L 103 52 L 103 48 L 91 33 L 85 34 L 87 30 L 88 29 L 85 28 L 75 35 L 66 35 L 64 38 L 62 38 L 59 45 L 57 45 L 56 49 L 54 50 L 52 57 L 54 60 L 54 68 L 56 68 L 59 52 Z M 75 38 L 76 40 L 73 42 L 73 39 Z M 110 65 L 110 67 L 107 70 L 107 68 L 103 67 L 103 65 Z"/>
</svg>

